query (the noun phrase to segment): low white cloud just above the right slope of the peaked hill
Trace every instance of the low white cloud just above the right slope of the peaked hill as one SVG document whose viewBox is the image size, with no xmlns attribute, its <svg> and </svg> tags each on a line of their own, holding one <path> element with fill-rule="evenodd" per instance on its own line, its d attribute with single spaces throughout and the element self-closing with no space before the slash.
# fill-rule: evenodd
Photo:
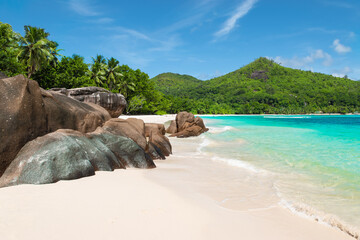
<svg viewBox="0 0 360 240">
<path fill-rule="evenodd" d="M 330 66 L 333 62 L 333 59 L 330 54 L 327 52 L 324 52 L 322 49 L 315 50 L 311 52 L 308 56 L 299 58 L 297 56 L 293 58 L 283 58 L 280 56 L 277 56 L 273 59 L 277 63 L 281 63 L 284 66 L 292 67 L 292 68 L 303 68 L 303 67 L 309 67 L 310 64 L 315 63 L 318 60 L 322 61 L 322 65 L 324 66 Z"/>
</svg>

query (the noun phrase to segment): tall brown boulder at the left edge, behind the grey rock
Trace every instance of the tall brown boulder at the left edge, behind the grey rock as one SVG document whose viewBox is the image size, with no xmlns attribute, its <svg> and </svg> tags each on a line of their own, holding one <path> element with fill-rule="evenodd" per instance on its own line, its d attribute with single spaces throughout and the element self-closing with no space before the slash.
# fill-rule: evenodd
<svg viewBox="0 0 360 240">
<path fill-rule="evenodd" d="M 22 75 L 0 80 L 0 176 L 28 142 L 48 132 L 37 82 Z"/>
</svg>

